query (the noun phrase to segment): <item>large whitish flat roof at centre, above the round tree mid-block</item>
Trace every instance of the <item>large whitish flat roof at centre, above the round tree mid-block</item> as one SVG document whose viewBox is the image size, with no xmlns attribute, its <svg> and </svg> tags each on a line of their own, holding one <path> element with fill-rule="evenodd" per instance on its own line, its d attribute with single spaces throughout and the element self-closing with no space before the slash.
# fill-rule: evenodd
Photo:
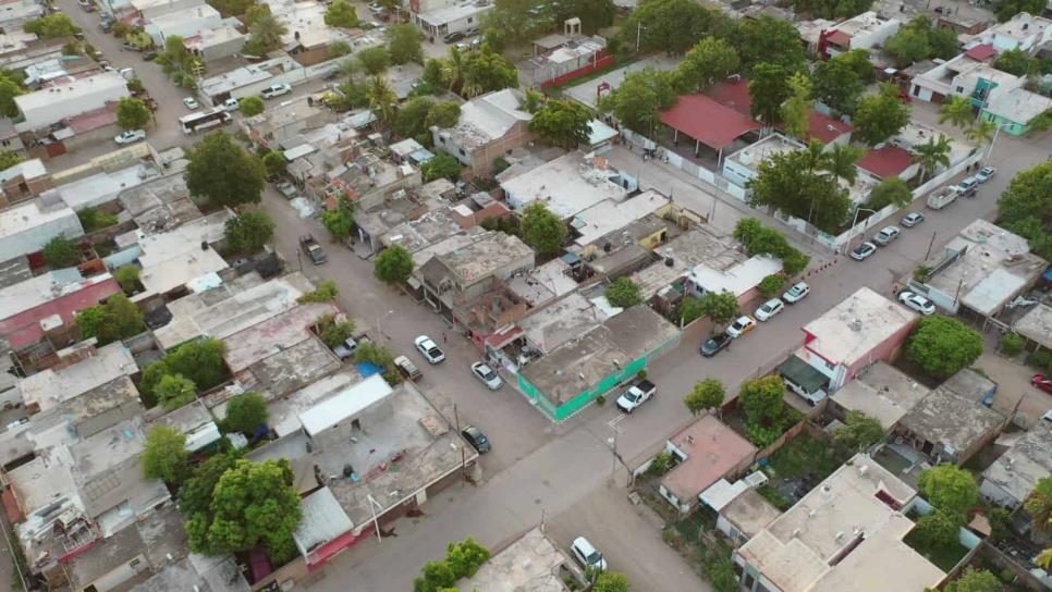
<svg viewBox="0 0 1052 592">
<path fill-rule="evenodd" d="M 566 220 L 604 200 L 623 201 L 628 189 L 621 183 L 617 171 L 610 169 L 605 159 L 584 159 L 571 152 L 501 183 L 507 203 L 523 210 L 539 201 L 559 218 Z"/>
</svg>

